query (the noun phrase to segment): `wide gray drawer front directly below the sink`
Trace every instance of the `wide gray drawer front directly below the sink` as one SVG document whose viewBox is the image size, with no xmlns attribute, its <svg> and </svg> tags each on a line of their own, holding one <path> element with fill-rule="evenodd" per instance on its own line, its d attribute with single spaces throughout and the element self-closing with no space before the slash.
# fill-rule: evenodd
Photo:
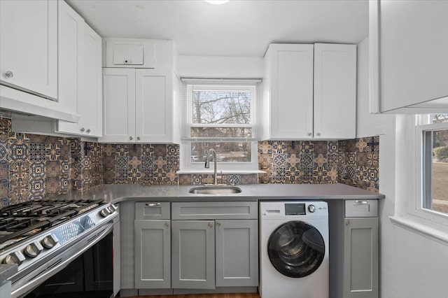
<svg viewBox="0 0 448 298">
<path fill-rule="evenodd" d="M 173 220 L 248 220 L 258 218 L 256 201 L 181 202 L 172 205 Z"/>
</svg>

